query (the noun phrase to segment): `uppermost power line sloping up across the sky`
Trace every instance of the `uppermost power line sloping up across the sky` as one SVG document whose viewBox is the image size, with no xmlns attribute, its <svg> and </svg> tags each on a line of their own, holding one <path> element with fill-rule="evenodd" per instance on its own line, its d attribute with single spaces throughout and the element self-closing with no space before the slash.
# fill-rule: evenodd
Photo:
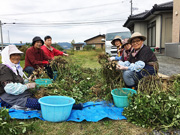
<svg viewBox="0 0 180 135">
<path fill-rule="evenodd" d="M 122 3 L 125 0 L 121 1 Z M 101 5 L 94 5 L 94 6 L 88 6 L 88 7 L 82 7 L 82 8 L 72 8 L 72 9 L 62 9 L 62 10 L 52 10 L 52 11 L 42 11 L 42 12 L 29 12 L 29 13 L 16 13 L 16 14 L 3 14 L 0 16 L 14 16 L 14 15 L 29 15 L 29 14 L 44 14 L 44 13 L 54 13 L 54 12 L 65 12 L 65 11 L 73 11 L 73 10 L 81 10 L 81 9 L 87 9 L 87 8 L 95 8 L 95 7 L 101 7 L 101 6 L 109 6 L 109 5 L 114 5 L 119 2 L 114 2 L 114 3 L 107 3 L 107 4 L 101 4 Z"/>
</svg>

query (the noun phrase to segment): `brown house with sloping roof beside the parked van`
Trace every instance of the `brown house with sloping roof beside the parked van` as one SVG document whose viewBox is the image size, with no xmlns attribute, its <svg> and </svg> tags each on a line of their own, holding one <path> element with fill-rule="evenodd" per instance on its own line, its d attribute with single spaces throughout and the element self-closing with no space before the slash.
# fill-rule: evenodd
<svg viewBox="0 0 180 135">
<path fill-rule="evenodd" d="M 95 37 L 85 40 L 84 42 L 87 45 L 95 45 L 96 49 L 104 49 L 105 43 L 102 41 L 102 39 L 105 39 L 105 34 L 103 34 L 103 35 L 99 34 Z"/>
</svg>

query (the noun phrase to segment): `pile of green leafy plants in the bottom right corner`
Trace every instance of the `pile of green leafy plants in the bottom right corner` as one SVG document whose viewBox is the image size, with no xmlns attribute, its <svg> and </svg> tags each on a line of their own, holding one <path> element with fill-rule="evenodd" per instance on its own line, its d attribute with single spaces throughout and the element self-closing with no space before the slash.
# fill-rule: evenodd
<svg viewBox="0 0 180 135">
<path fill-rule="evenodd" d="M 139 93 L 131 98 L 123 115 L 129 122 L 142 127 L 179 128 L 180 100 L 170 92 Z"/>
</svg>

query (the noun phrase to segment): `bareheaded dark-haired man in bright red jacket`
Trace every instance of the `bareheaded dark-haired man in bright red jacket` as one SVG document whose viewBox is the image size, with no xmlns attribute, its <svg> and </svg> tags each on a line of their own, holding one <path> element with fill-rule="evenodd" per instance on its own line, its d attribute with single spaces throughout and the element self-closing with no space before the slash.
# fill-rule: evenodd
<svg viewBox="0 0 180 135">
<path fill-rule="evenodd" d="M 51 57 L 52 59 L 54 59 L 54 56 L 58 56 L 58 55 L 69 56 L 68 54 L 61 52 L 61 51 L 59 51 L 59 50 L 57 50 L 51 46 L 52 38 L 50 36 L 44 37 L 44 43 L 45 44 L 43 46 L 41 46 L 41 49 L 44 51 L 44 53 L 47 56 Z"/>
</svg>

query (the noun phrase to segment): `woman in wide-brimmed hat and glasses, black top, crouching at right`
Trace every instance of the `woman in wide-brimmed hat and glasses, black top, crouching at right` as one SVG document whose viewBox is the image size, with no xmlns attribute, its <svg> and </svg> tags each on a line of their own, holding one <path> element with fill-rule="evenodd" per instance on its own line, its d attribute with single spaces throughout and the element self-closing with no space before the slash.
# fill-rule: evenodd
<svg viewBox="0 0 180 135">
<path fill-rule="evenodd" d="M 133 50 L 128 61 L 118 62 L 117 69 L 123 70 L 123 79 L 127 87 L 136 87 L 138 81 L 147 75 L 154 75 L 158 62 L 150 47 L 144 45 L 145 36 L 135 32 L 129 39 Z"/>
</svg>

